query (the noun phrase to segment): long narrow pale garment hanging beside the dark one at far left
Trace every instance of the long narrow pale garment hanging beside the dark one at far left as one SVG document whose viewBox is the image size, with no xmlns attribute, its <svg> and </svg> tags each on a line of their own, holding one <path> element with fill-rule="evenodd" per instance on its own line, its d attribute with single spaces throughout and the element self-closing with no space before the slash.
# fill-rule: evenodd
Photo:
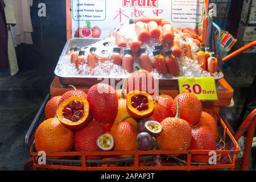
<svg viewBox="0 0 256 182">
<path fill-rule="evenodd" d="M 14 48 L 14 41 L 13 36 L 16 36 L 15 32 L 11 32 L 11 29 L 16 25 L 16 18 L 14 13 L 14 7 L 13 7 L 13 0 L 3 0 L 5 2 L 5 16 L 6 16 L 6 22 L 8 25 L 8 55 L 9 55 L 9 71 L 10 75 L 14 76 L 16 73 L 18 73 L 18 61 L 16 57 L 16 52 Z"/>
</svg>

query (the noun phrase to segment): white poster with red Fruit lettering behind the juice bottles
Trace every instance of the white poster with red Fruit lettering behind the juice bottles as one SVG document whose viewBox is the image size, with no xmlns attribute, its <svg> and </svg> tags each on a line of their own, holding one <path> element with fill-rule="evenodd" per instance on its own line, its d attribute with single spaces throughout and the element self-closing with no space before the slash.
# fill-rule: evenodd
<svg viewBox="0 0 256 182">
<path fill-rule="evenodd" d="M 138 16 L 161 16 L 174 27 L 203 27 L 204 0 L 70 0 L 72 36 L 106 38 Z M 82 29 L 84 28 L 84 29 Z"/>
</svg>

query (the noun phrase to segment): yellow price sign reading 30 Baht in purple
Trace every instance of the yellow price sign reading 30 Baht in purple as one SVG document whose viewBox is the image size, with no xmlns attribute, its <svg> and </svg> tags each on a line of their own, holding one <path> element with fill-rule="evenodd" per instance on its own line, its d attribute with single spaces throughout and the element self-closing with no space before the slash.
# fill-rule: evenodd
<svg viewBox="0 0 256 182">
<path fill-rule="evenodd" d="M 179 89 L 180 93 L 195 94 L 199 100 L 218 100 L 213 77 L 179 78 Z"/>
</svg>

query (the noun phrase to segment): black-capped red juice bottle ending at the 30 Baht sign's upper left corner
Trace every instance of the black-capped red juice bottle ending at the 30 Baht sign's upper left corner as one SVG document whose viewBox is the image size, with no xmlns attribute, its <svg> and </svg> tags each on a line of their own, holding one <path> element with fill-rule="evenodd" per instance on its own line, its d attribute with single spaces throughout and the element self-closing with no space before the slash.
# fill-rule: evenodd
<svg viewBox="0 0 256 182">
<path fill-rule="evenodd" d="M 179 76 L 180 67 L 176 57 L 172 54 L 171 50 L 166 51 L 165 54 L 166 54 L 166 58 L 164 59 L 164 61 L 166 62 L 168 72 L 171 73 L 171 75 L 173 76 Z"/>
</svg>

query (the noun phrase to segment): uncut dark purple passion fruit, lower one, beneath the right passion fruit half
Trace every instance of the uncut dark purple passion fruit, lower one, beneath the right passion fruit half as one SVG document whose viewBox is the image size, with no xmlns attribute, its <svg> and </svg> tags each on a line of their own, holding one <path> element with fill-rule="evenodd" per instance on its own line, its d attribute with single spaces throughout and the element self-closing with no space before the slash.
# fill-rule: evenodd
<svg viewBox="0 0 256 182">
<path fill-rule="evenodd" d="M 142 132 L 138 134 L 137 146 L 139 150 L 143 150 L 143 151 L 152 150 L 154 145 L 155 145 L 154 140 L 152 139 L 150 134 L 148 134 L 147 132 Z"/>
</svg>

